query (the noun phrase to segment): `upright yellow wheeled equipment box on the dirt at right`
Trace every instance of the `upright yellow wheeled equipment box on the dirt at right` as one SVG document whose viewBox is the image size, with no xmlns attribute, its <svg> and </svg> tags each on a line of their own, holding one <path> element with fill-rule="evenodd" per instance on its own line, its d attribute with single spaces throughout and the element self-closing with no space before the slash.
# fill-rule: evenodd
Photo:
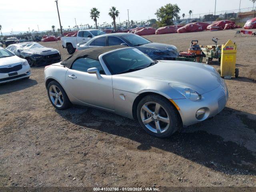
<svg viewBox="0 0 256 192">
<path fill-rule="evenodd" d="M 239 71 L 236 68 L 236 44 L 231 40 L 221 49 L 220 76 L 224 78 L 238 77 Z"/>
</svg>

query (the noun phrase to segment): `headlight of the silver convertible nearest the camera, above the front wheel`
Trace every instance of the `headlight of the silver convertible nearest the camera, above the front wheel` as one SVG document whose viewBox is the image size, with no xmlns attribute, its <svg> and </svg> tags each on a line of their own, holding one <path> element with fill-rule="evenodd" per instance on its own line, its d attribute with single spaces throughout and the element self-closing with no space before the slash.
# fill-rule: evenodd
<svg viewBox="0 0 256 192">
<path fill-rule="evenodd" d="M 182 94 L 185 98 L 191 101 L 198 101 L 202 98 L 202 96 L 198 92 L 188 87 L 185 87 L 179 84 L 172 84 L 172 83 L 170 83 L 169 85 L 172 88 L 174 88 L 176 91 L 178 91 L 180 94 Z"/>
</svg>

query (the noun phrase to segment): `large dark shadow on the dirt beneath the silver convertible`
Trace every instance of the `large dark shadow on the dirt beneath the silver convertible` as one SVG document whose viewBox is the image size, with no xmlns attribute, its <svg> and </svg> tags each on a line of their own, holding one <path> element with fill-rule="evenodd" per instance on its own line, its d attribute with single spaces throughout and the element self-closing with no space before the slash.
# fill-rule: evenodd
<svg viewBox="0 0 256 192">
<path fill-rule="evenodd" d="M 92 108 L 58 111 L 66 120 L 140 143 L 135 150 L 152 147 L 234 175 L 256 175 L 256 115 L 225 108 L 214 118 L 184 128 L 170 138 L 156 138 L 133 120 Z"/>
</svg>

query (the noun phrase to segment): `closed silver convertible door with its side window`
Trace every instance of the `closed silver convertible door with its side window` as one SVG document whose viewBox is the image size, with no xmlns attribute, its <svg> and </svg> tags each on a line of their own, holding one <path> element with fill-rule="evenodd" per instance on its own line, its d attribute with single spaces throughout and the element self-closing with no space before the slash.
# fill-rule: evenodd
<svg viewBox="0 0 256 192">
<path fill-rule="evenodd" d="M 101 78 L 87 73 L 88 68 L 96 67 Z M 112 76 L 106 75 L 100 62 L 91 58 L 79 58 L 66 72 L 68 91 L 79 102 L 114 110 Z"/>
</svg>

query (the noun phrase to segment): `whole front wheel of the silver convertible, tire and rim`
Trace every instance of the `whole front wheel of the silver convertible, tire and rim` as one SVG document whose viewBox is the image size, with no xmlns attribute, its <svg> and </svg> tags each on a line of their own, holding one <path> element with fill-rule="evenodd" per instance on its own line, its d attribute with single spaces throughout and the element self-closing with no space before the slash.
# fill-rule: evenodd
<svg viewBox="0 0 256 192">
<path fill-rule="evenodd" d="M 174 106 L 158 95 L 146 96 L 139 102 L 137 117 L 146 132 L 160 138 L 171 136 L 180 122 Z"/>
</svg>

